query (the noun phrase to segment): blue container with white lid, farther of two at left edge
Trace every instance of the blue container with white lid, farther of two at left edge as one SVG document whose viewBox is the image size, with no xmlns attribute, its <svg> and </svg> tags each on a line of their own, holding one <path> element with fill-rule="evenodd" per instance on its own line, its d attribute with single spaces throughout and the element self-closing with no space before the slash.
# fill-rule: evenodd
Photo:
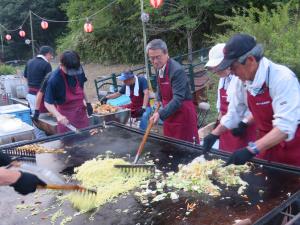
<svg viewBox="0 0 300 225">
<path fill-rule="evenodd" d="M 21 119 L 24 123 L 32 125 L 30 109 L 21 104 L 0 106 L 0 114 L 13 114 L 16 118 Z"/>
</svg>

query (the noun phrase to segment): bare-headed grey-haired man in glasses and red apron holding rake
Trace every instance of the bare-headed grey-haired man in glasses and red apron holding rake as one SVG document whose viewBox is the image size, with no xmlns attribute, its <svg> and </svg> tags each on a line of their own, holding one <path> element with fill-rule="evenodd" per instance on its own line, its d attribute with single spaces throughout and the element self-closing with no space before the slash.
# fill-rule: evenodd
<svg viewBox="0 0 300 225">
<path fill-rule="evenodd" d="M 150 41 L 147 53 L 157 70 L 157 100 L 163 105 L 150 119 L 163 120 L 165 136 L 199 143 L 196 110 L 184 69 L 169 58 L 167 45 L 161 39 Z"/>
</svg>

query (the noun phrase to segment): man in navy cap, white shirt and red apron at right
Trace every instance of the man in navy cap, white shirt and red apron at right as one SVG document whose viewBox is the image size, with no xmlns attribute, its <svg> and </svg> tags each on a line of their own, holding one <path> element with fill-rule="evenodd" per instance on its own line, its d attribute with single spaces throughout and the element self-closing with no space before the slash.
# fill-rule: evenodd
<svg viewBox="0 0 300 225">
<path fill-rule="evenodd" d="M 254 156 L 300 166 L 300 86 L 287 67 L 263 57 L 261 45 L 246 34 L 233 36 L 218 70 L 231 69 L 246 83 L 247 104 L 259 139 L 234 152 L 227 164 L 244 164 Z M 218 133 L 224 127 L 219 126 Z"/>
</svg>

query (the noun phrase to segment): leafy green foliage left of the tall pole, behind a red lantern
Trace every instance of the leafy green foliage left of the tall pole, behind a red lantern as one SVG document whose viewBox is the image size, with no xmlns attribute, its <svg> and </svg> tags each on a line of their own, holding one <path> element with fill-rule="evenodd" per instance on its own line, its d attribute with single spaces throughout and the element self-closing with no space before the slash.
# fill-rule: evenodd
<svg viewBox="0 0 300 225">
<path fill-rule="evenodd" d="M 84 18 L 105 8 L 110 0 L 70 0 L 63 5 L 69 19 Z M 89 18 L 93 33 L 83 31 L 84 20 L 70 23 L 71 30 L 58 40 L 59 49 L 76 49 L 87 61 L 136 63 L 143 59 L 139 0 L 117 1 Z"/>
</svg>

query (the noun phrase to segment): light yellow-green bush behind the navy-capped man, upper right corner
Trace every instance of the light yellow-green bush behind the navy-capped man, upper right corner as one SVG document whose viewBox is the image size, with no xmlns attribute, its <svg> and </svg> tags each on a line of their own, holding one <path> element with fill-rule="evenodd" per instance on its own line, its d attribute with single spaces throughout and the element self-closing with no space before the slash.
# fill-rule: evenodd
<svg viewBox="0 0 300 225">
<path fill-rule="evenodd" d="M 296 2 L 277 4 L 274 9 L 239 8 L 233 16 L 218 16 L 221 25 L 229 26 L 225 34 L 213 37 L 213 42 L 226 41 L 234 33 L 247 33 L 262 43 L 265 55 L 282 63 L 300 75 L 300 8 Z"/>
</svg>

